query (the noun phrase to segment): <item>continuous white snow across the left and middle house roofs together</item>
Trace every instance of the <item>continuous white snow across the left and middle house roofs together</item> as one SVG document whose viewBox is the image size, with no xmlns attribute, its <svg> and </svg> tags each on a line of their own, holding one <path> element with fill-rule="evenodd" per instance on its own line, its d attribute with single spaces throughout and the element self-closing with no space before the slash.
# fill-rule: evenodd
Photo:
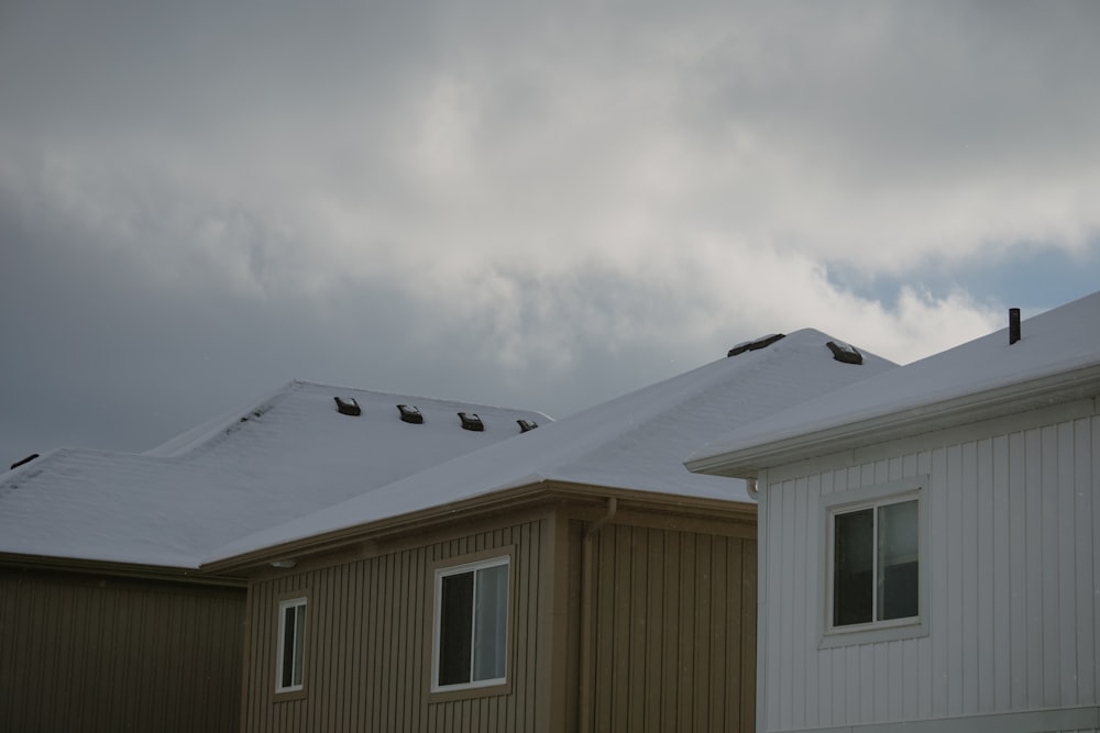
<svg viewBox="0 0 1100 733">
<path fill-rule="evenodd" d="M 892 368 L 806 330 L 553 422 L 530 411 L 292 382 L 144 454 L 67 448 L 0 475 L 0 553 L 194 569 L 202 562 L 560 480 L 748 501 L 689 473 L 706 440 Z M 340 414 L 353 398 L 361 417 Z M 419 408 L 424 424 L 399 419 Z M 462 430 L 476 413 L 484 432 Z M 517 420 L 539 423 L 521 433 Z"/>
</svg>

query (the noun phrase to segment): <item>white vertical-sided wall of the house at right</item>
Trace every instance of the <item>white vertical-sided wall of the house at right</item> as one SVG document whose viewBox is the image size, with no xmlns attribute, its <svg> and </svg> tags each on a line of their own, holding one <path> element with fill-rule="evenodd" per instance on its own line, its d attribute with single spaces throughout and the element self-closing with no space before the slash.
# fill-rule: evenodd
<svg viewBox="0 0 1100 733">
<path fill-rule="evenodd" d="M 1100 729 L 1094 412 L 1087 400 L 761 477 L 762 730 L 990 714 L 935 730 Z M 923 475 L 930 634 L 818 648 L 822 501 Z M 1055 712 L 1001 715 L 1024 711 Z"/>
</svg>

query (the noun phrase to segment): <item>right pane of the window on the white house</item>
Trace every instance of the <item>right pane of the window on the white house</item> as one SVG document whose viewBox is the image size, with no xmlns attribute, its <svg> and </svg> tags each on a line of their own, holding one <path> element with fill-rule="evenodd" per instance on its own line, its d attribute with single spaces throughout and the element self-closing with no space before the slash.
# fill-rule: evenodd
<svg viewBox="0 0 1100 733">
<path fill-rule="evenodd" d="M 919 553 L 916 501 L 879 507 L 880 620 L 920 613 Z"/>
</svg>

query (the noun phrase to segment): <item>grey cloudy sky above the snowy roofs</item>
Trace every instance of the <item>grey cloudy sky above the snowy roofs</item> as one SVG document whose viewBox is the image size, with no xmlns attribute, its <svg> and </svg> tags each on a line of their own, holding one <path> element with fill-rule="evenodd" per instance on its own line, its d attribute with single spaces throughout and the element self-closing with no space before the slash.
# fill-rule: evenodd
<svg viewBox="0 0 1100 733">
<path fill-rule="evenodd" d="M 0 2 L 0 463 L 294 378 L 564 417 L 1084 296 L 1097 37 L 1090 1 Z"/>
</svg>

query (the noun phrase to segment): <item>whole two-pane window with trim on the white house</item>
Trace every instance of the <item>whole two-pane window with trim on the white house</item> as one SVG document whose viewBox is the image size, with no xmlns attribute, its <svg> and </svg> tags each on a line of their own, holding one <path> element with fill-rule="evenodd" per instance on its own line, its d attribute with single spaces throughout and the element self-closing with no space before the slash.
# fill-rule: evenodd
<svg viewBox="0 0 1100 733">
<path fill-rule="evenodd" d="M 910 482 L 834 495 L 825 518 L 823 644 L 927 633 L 921 488 Z"/>
</svg>

